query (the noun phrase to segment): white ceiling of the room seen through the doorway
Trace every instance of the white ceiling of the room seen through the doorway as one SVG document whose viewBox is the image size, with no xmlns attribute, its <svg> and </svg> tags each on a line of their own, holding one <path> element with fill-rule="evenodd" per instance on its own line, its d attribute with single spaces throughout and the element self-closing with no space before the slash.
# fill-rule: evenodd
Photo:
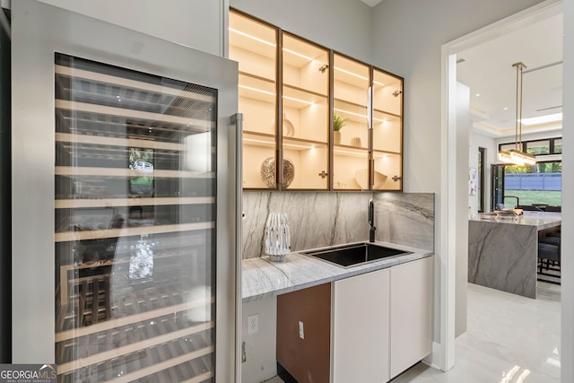
<svg viewBox="0 0 574 383">
<path fill-rule="evenodd" d="M 522 117 L 562 111 L 562 15 L 530 23 L 457 55 L 457 80 L 470 87 L 474 130 L 482 135 L 515 135 L 517 72 L 523 74 Z M 522 133 L 561 130 L 561 120 L 526 126 Z"/>
</svg>

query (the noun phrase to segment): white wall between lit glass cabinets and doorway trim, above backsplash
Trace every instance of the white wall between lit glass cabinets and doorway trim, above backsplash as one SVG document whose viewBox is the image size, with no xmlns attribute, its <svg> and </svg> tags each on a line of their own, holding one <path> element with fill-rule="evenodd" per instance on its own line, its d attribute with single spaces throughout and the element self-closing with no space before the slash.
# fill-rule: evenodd
<svg viewBox="0 0 574 383">
<path fill-rule="evenodd" d="M 442 44 L 540 2 L 385 0 L 375 8 L 372 64 L 405 78 L 405 191 L 440 191 Z"/>
</svg>

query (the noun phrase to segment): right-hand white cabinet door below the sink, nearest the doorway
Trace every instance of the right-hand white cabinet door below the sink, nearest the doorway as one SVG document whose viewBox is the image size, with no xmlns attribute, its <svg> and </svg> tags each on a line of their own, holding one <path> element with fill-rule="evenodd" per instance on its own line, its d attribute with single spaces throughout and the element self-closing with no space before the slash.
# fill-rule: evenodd
<svg viewBox="0 0 574 383">
<path fill-rule="evenodd" d="M 390 378 L 431 353 L 433 259 L 390 270 Z"/>
</svg>

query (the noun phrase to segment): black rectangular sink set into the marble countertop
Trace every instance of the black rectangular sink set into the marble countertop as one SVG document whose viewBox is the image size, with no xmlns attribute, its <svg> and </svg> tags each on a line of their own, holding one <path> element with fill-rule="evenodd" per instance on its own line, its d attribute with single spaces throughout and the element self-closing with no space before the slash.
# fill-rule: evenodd
<svg viewBox="0 0 574 383">
<path fill-rule="evenodd" d="M 387 257 L 404 256 L 405 254 L 411 254 L 411 252 L 364 242 L 333 248 L 322 248 L 320 250 L 300 251 L 300 254 L 317 257 L 335 265 L 351 267 Z"/>
</svg>

